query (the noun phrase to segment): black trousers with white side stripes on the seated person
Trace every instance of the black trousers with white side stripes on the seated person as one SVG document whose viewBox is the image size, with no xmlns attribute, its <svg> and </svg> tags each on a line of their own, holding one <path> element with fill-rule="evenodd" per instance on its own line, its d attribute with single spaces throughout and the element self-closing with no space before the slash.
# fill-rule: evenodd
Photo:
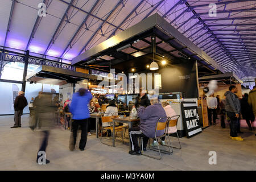
<svg viewBox="0 0 256 182">
<path fill-rule="evenodd" d="M 142 137 L 143 142 L 142 146 L 143 148 L 147 147 L 147 142 L 148 142 L 148 137 L 144 135 L 139 127 L 131 127 L 129 129 L 129 138 L 130 138 L 130 143 L 131 143 L 131 150 L 133 151 L 138 151 L 139 149 L 139 144 L 138 144 L 138 138 Z"/>
</svg>

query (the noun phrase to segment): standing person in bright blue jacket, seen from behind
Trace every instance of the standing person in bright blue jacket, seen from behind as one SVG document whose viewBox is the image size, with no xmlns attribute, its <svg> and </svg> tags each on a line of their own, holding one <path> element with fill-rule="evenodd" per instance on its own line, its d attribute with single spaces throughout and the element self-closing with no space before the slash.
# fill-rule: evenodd
<svg viewBox="0 0 256 182">
<path fill-rule="evenodd" d="M 69 142 L 69 150 L 73 151 L 76 146 L 77 129 L 81 127 L 81 139 L 79 149 L 84 150 L 87 142 L 88 118 L 90 117 L 88 104 L 92 99 L 89 90 L 80 88 L 79 92 L 73 94 L 70 111 L 73 114 L 72 132 L 73 138 Z"/>
</svg>

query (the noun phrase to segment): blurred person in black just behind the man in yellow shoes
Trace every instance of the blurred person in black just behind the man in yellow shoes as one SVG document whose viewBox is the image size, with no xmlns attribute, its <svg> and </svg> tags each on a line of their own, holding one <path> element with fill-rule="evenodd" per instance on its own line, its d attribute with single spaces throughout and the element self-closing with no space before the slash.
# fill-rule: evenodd
<svg viewBox="0 0 256 182">
<path fill-rule="evenodd" d="M 251 123 L 254 122 L 254 114 L 253 114 L 253 109 L 251 108 L 251 106 L 248 103 L 248 97 L 249 94 L 245 93 L 243 95 L 243 98 L 241 100 L 241 111 L 242 111 L 242 117 L 243 119 L 245 119 L 249 130 L 253 130 L 253 127 L 251 127 Z"/>
</svg>

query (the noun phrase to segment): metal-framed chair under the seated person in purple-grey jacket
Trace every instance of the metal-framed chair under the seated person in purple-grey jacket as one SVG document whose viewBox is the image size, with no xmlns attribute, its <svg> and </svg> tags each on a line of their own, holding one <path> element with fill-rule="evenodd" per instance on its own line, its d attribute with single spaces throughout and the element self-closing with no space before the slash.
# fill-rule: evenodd
<svg viewBox="0 0 256 182">
<path fill-rule="evenodd" d="M 160 122 L 160 121 L 162 121 L 163 119 L 165 119 L 166 121 L 165 121 L 165 122 Z M 156 133 L 157 133 L 157 131 L 159 131 L 159 130 L 167 131 L 166 129 L 167 129 L 167 123 L 168 123 L 169 119 L 170 119 L 170 117 L 164 117 L 164 118 L 159 118 L 159 119 L 158 119 L 158 122 L 156 123 L 156 126 L 155 126 L 155 137 L 152 138 L 152 139 L 155 139 L 155 140 L 157 141 L 158 138 L 162 138 L 162 137 L 164 137 L 164 136 L 166 137 L 166 133 L 165 133 L 165 132 L 164 132 L 163 135 L 160 135 L 160 136 L 158 136 L 158 137 L 156 137 Z M 151 139 L 151 138 L 150 138 L 150 139 Z M 156 142 L 158 148 L 154 148 L 154 147 L 153 147 L 153 148 L 150 148 L 150 139 L 148 140 L 148 147 L 149 147 L 149 149 L 150 149 L 150 150 L 154 150 L 154 151 L 158 151 L 158 152 L 159 152 L 159 155 L 160 155 L 160 158 L 156 158 L 155 156 L 144 154 L 143 150 L 142 150 L 142 155 L 145 155 L 145 156 L 148 156 L 148 157 L 150 157 L 150 158 L 154 158 L 154 159 L 160 160 L 160 159 L 162 159 L 161 152 L 164 153 L 164 154 L 169 154 L 169 155 L 172 154 L 173 150 L 171 151 L 170 144 L 169 144 L 168 140 L 167 140 L 167 146 L 168 146 L 169 151 L 167 151 L 167 150 L 160 150 L 160 148 L 159 148 L 159 143 L 158 143 L 158 142 Z M 142 145 L 143 145 L 143 138 L 141 138 L 141 143 L 142 143 Z M 143 146 L 142 146 L 142 148 L 143 148 Z"/>
</svg>

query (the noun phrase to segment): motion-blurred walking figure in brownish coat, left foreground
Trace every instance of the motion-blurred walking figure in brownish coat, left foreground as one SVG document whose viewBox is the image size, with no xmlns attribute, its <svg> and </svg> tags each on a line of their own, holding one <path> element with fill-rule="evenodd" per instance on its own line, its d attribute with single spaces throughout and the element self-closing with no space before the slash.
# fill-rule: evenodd
<svg viewBox="0 0 256 182">
<path fill-rule="evenodd" d="M 54 122 L 54 112 L 57 106 L 52 100 L 51 93 L 39 92 L 39 96 L 35 98 L 34 109 L 38 122 L 39 131 L 42 131 L 43 138 L 36 158 L 36 163 L 42 164 L 42 155 L 46 159 L 46 148 L 49 138 L 49 130 L 55 125 Z M 43 153 L 42 153 L 43 152 Z M 49 160 L 46 159 L 46 164 Z"/>
</svg>

